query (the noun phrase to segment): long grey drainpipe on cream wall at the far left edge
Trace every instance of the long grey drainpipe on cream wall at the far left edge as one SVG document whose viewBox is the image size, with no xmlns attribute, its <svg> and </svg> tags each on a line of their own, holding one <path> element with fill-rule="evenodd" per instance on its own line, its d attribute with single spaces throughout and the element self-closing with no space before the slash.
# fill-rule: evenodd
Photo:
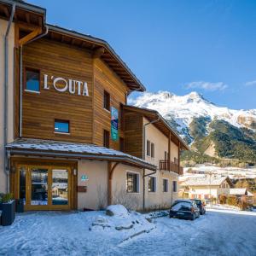
<svg viewBox="0 0 256 256">
<path fill-rule="evenodd" d="M 12 12 L 9 17 L 8 26 L 4 35 L 4 91 L 3 91 L 3 170 L 6 175 L 6 192 L 9 193 L 9 157 L 7 155 L 7 150 L 5 146 L 8 142 L 8 83 L 9 83 L 9 47 L 8 47 L 8 37 L 9 37 L 9 30 L 10 26 L 13 22 L 14 15 L 15 15 L 15 3 L 12 5 Z"/>
</svg>

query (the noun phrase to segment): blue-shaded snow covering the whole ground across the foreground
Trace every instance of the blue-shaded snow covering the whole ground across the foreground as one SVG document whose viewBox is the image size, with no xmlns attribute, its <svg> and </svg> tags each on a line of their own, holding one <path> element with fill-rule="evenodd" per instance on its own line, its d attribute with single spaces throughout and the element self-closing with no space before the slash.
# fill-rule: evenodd
<svg viewBox="0 0 256 256">
<path fill-rule="evenodd" d="M 255 255 L 256 213 L 216 211 L 195 221 L 154 218 L 142 224 L 153 230 L 127 241 L 139 225 L 115 230 L 105 212 L 20 213 L 12 226 L 0 226 L 0 255 Z M 112 219 L 113 225 L 91 229 L 98 218 Z"/>
</svg>

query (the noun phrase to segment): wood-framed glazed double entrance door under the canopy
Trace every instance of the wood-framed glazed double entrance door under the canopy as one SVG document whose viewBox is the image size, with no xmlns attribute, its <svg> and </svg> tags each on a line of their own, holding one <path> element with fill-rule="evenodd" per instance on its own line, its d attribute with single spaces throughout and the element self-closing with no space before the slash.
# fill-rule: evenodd
<svg viewBox="0 0 256 256">
<path fill-rule="evenodd" d="M 20 198 L 26 210 L 70 209 L 70 167 L 19 166 L 18 169 Z"/>
</svg>

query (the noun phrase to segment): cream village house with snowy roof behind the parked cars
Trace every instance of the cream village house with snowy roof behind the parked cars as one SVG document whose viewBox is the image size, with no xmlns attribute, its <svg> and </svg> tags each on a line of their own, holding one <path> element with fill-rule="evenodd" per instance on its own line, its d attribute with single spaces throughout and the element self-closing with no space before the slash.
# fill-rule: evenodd
<svg viewBox="0 0 256 256">
<path fill-rule="evenodd" d="M 229 177 L 204 176 L 188 177 L 180 183 L 180 194 L 189 199 L 219 201 L 221 195 L 230 195 L 233 183 Z"/>
</svg>

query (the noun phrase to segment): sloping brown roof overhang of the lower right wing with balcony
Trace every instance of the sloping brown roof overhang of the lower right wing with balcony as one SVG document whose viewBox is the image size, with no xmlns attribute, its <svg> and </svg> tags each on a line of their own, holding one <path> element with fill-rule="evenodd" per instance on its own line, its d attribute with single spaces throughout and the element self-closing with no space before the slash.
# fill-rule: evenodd
<svg viewBox="0 0 256 256">
<path fill-rule="evenodd" d="M 148 108 L 137 108 L 129 105 L 125 105 L 124 110 L 141 113 L 150 122 L 156 120 L 153 125 L 156 126 L 163 134 L 165 134 L 166 137 L 168 137 L 169 133 L 171 133 L 173 143 L 176 143 L 177 145 L 180 143 L 182 149 L 189 150 L 189 146 L 179 135 L 177 135 L 176 131 L 173 131 L 172 127 L 166 122 L 166 119 L 164 119 L 158 111 Z"/>
</svg>

